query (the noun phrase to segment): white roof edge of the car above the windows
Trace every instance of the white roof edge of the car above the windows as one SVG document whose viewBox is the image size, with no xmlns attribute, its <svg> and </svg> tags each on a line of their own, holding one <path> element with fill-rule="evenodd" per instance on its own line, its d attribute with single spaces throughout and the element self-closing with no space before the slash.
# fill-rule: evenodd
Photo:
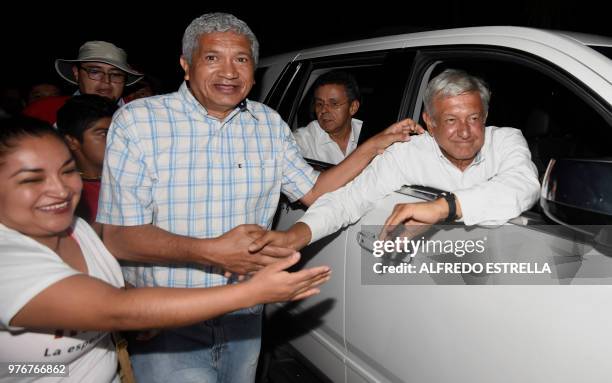
<svg viewBox="0 0 612 383">
<path fill-rule="evenodd" d="M 325 45 L 263 58 L 260 66 L 286 65 L 294 60 L 408 47 L 487 45 L 507 47 L 542 57 L 578 74 L 599 93 L 612 86 L 612 60 L 589 47 L 612 47 L 612 38 L 585 33 L 515 26 L 485 26 L 406 33 Z"/>
</svg>

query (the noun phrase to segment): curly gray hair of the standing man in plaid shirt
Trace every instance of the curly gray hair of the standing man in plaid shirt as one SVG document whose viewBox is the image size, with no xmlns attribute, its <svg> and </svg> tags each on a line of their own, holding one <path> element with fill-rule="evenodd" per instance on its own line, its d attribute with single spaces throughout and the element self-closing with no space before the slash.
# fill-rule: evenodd
<svg viewBox="0 0 612 383">
<path fill-rule="evenodd" d="M 183 57 L 191 65 L 193 52 L 198 46 L 200 35 L 214 32 L 234 32 L 246 36 L 251 41 L 251 56 L 257 67 L 259 42 L 251 28 L 242 20 L 229 13 L 207 13 L 196 19 L 183 34 Z"/>
</svg>

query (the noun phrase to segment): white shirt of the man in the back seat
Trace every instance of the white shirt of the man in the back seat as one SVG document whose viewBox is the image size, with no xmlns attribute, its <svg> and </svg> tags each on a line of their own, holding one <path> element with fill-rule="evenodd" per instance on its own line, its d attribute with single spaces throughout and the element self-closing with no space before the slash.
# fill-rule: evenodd
<svg viewBox="0 0 612 383">
<path fill-rule="evenodd" d="M 310 124 L 303 128 L 297 129 L 293 132 L 293 135 L 305 158 L 337 165 L 357 147 L 361 125 L 363 125 L 361 120 L 356 118 L 351 120 L 351 135 L 346 146 L 346 154 L 340 150 L 338 144 L 331 139 L 329 134 L 321 128 L 317 120 L 310 122 Z"/>
</svg>

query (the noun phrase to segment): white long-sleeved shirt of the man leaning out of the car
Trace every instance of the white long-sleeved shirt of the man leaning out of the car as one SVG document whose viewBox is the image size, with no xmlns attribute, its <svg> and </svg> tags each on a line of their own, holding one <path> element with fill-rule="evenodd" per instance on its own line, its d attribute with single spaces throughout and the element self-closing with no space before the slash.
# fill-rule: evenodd
<svg viewBox="0 0 612 383">
<path fill-rule="evenodd" d="M 310 227 L 314 242 L 356 222 L 403 185 L 453 192 L 466 225 L 503 224 L 533 206 L 540 189 L 518 129 L 486 127 L 483 147 L 463 172 L 442 154 L 433 137 L 422 134 L 394 144 L 352 182 L 319 197 L 300 221 Z"/>
</svg>

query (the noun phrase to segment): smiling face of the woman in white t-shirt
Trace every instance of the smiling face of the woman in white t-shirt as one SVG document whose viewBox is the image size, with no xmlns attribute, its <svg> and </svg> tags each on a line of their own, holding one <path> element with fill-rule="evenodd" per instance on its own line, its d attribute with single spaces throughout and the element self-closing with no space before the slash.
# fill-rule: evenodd
<svg viewBox="0 0 612 383">
<path fill-rule="evenodd" d="M 41 243 L 70 226 L 81 194 L 81 177 L 61 139 L 19 138 L 0 157 L 0 222 Z"/>
</svg>

